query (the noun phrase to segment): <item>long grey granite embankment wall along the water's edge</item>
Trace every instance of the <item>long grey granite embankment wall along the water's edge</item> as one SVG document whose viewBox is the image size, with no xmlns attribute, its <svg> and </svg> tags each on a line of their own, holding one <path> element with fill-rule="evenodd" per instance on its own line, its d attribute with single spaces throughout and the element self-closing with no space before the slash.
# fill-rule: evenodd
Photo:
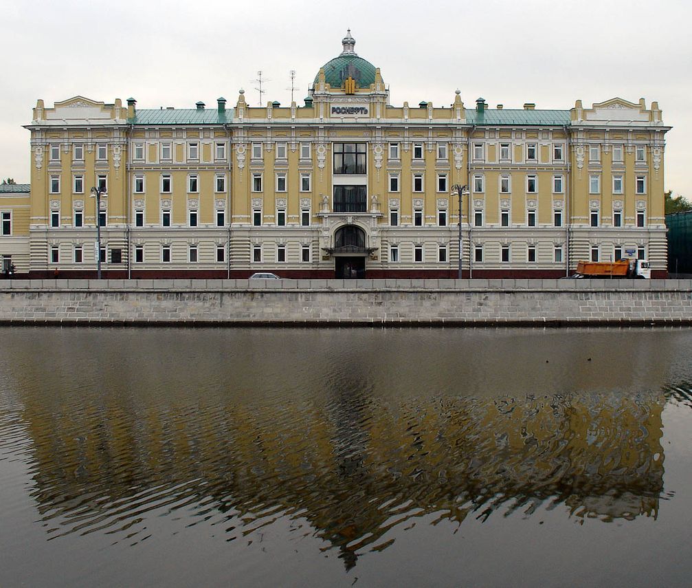
<svg viewBox="0 0 692 588">
<path fill-rule="evenodd" d="M 692 280 L 5 280 L 0 324 L 692 325 Z"/>
</svg>

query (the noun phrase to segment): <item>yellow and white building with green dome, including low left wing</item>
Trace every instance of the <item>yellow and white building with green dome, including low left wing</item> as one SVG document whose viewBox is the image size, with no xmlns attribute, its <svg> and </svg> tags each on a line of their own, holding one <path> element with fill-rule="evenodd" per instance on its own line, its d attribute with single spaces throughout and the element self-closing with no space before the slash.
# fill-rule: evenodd
<svg viewBox="0 0 692 588">
<path fill-rule="evenodd" d="M 0 189 L 0 255 L 20 275 L 95 276 L 98 220 L 109 277 L 457 277 L 459 256 L 473 278 L 619 258 L 666 276 L 656 102 L 391 105 L 355 43 L 300 105 L 38 100 L 30 195 Z"/>
</svg>

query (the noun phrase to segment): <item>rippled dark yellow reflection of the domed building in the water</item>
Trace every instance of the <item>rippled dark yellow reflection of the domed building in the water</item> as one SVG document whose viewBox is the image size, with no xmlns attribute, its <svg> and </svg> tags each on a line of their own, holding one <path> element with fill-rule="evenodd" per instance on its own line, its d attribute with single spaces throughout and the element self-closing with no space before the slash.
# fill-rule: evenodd
<svg viewBox="0 0 692 588">
<path fill-rule="evenodd" d="M 530 514 L 543 501 L 579 517 L 657 515 L 662 394 L 390 405 L 344 399 L 335 386 L 271 407 L 235 399 L 143 409 L 116 395 L 62 412 L 29 405 L 39 511 L 60 522 L 57 533 L 136 528 L 166 505 L 192 505 L 192 519 L 216 509 L 237 535 L 293 516 L 338 546 L 348 567 L 419 515 L 460 524 L 498 508 Z M 343 402 L 354 416 L 346 425 Z"/>
</svg>

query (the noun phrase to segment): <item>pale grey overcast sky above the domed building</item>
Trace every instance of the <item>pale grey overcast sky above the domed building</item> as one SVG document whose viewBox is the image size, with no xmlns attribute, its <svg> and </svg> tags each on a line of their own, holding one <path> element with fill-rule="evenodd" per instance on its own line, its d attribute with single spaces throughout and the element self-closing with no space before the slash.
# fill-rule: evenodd
<svg viewBox="0 0 692 588">
<path fill-rule="evenodd" d="M 82 95 L 139 108 L 257 105 L 306 96 L 350 27 L 356 53 L 381 68 L 391 102 L 570 109 L 619 96 L 658 100 L 666 189 L 692 198 L 692 1 L 0 0 L 0 176 L 29 181 L 37 98 Z M 687 170 L 687 171 L 686 171 Z"/>
</svg>

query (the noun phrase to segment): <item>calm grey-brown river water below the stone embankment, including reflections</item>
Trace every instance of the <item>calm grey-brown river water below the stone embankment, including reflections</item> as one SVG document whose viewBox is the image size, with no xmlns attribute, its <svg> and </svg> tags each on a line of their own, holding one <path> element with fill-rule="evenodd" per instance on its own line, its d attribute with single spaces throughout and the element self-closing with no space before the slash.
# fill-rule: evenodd
<svg viewBox="0 0 692 588">
<path fill-rule="evenodd" d="M 692 330 L 0 330 L 0 586 L 686 586 Z"/>
</svg>

